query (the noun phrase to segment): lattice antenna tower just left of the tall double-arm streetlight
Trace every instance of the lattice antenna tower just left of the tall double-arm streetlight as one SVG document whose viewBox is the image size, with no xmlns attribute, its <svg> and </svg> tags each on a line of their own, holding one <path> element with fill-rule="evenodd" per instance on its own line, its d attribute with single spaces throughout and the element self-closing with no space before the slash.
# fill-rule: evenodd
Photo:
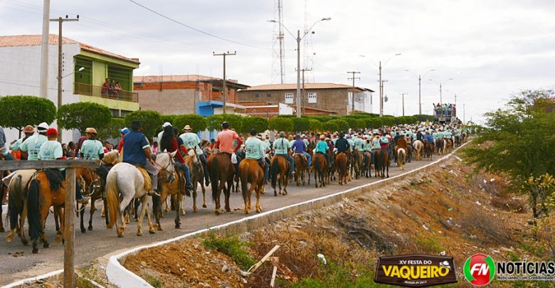
<svg viewBox="0 0 555 288">
<path fill-rule="evenodd" d="M 272 33 L 272 83 L 280 78 L 281 84 L 285 83 L 285 49 L 283 34 L 283 6 L 282 0 L 274 1 L 274 29 Z M 279 68 L 277 63 L 280 63 Z"/>
</svg>

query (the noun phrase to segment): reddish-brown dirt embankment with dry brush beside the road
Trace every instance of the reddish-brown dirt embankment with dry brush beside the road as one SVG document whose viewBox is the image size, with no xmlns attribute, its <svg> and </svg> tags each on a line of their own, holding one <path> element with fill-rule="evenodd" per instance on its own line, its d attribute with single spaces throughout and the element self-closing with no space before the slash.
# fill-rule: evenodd
<svg viewBox="0 0 555 288">
<path fill-rule="evenodd" d="M 154 287 L 268 287 L 274 265 L 277 287 L 369 287 L 379 256 L 445 252 L 455 257 L 459 284 L 466 285 L 462 265 L 477 252 L 496 260 L 542 256 L 526 228 L 525 198 L 508 187 L 502 176 L 475 172 L 451 157 L 358 198 L 278 221 L 238 240 L 223 238 L 238 249 L 208 245 L 227 255 L 203 245 L 211 236 L 143 250 L 127 257 L 125 267 Z M 275 258 L 248 277 L 241 275 L 275 245 L 281 245 Z M 250 261 L 237 260 L 241 249 Z"/>
</svg>

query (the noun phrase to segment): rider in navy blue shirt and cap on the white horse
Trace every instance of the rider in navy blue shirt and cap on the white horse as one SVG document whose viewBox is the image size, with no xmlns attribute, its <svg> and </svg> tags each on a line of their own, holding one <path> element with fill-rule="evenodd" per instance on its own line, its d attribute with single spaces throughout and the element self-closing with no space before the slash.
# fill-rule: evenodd
<svg viewBox="0 0 555 288">
<path fill-rule="evenodd" d="M 152 191 L 149 196 L 160 196 L 158 193 L 158 169 L 154 167 L 154 160 L 151 158 L 150 144 L 147 137 L 142 134 L 141 122 L 133 120 L 131 131 L 127 132 L 123 142 L 123 161 L 131 165 L 142 166 L 149 173 L 152 183 Z"/>
</svg>

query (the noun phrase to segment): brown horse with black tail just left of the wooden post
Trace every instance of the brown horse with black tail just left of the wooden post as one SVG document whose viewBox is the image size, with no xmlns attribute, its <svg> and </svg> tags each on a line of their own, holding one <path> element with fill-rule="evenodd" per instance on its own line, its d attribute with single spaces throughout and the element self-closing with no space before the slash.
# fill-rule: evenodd
<svg viewBox="0 0 555 288">
<path fill-rule="evenodd" d="M 43 241 L 43 247 L 48 248 L 48 240 L 44 234 L 44 224 L 51 206 L 60 215 L 60 230 L 56 235 L 56 242 L 60 242 L 64 230 L 65 186 L 66 181 L 60 171 L 46 169 L 37 171 L 28 184 L 27 194 L 27 218 L 29 224 L 29 236 L 33 242 L 33 254 L 38 253 L 37 241 Z M 67 211 L 72 213 L 72 211 Z M 22 228 L 21 228 L 22 229 Z"/>
</svg>

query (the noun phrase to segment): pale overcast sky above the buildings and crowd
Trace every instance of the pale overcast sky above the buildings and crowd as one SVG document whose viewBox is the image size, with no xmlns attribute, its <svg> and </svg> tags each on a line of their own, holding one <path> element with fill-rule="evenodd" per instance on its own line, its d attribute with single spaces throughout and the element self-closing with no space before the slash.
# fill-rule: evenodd
<svg viewBox="0 0 555 288">
<path fill-rule="evenodd" d="M 135 75 L 221 77 L 222 59 L 212 52 L 237 51 L 228 57 L 229 79 L 280 82 L 273 73 L 280 69 L 279 61 L 273 65 L 275 24 L 268 22 L 275 15 L 273 0 L 134 1 L 184 25 L 129 0 L 51 0 L 51 18 L 79 14 L 78 23 L 64 24 L 64 36 L 139 58 Z M 0 35 L 40 34 L 42 4 L 0 0 Z M 354 70 L 361 72 L 357 86 L 378 91 L 376 64 L 388 61 L 382 70 L 388 80 L 385 113 L 400 115 L 400 93 L 408 93 L 405 112 L 417 114 L 418 80 L 406 70 L 418 75 L 435 69 L 422 80 L 423 112 L 439 101 L 436 83 L 453 78 L 443 85 L 443 102 L 455 102 L 458 95 L 458 116 L 465 103 L 466 120 L 480 119 L 514 92 L 554 87 L 554 15 L 555 1 L 549 0 L 283 1 L 283 23 L 295 36 L 305 23 L 332 18 L 314 26 L 309 45 L 301 44 L 302 55 L 312 55 L 301 64 L 313 69 L 307 81 L 350 85 L 347 71 Z M 53 23 L 51 33 L 57 32 Z M 296 82 L 296 46 L 285 32 L 287 83 Z M 376 92 L 375 104 L 377 97 Z"/>
</svg>

